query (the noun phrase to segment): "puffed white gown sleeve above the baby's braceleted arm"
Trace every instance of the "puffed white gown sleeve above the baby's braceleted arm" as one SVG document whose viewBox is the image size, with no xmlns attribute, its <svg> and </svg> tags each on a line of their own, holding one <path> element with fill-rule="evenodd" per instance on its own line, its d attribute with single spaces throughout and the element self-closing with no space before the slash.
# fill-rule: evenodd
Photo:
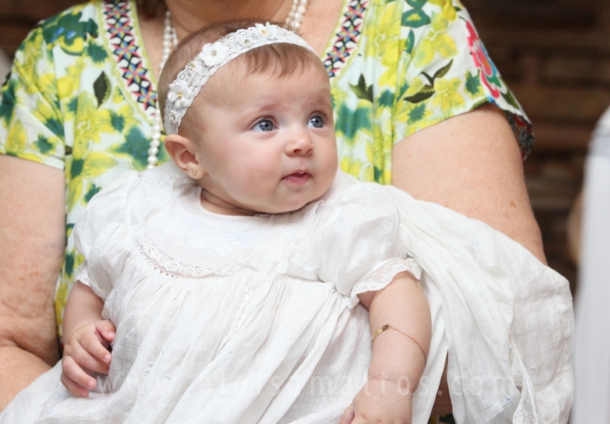
<svg viewBox="0 0 610 424">
<path fill-rule="evenodd" d="M 322 281 L 332 282 L 349 307 L 358 295 L 385 288 L 409 271 L 417 279 L 421 267 L 410 258 L 399 234 L 400 211 L 377 184 L 353 184 L 332 206 L 319 249 Z"/>
</svg>

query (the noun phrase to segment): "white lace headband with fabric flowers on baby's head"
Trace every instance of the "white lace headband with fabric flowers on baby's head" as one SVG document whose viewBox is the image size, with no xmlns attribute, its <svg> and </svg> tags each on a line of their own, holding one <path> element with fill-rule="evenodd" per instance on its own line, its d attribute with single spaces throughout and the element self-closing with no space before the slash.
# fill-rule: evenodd
<svg viewBox="0 0 610 424">
<path fill-rule="evenodd" d="M 249 50 L 277 42 L 287 42 L 315 52 L 303 38 L 278 25 L 269 25 L 269 22 L 237 30 L 216 42 L 204 45 L 201 53 L 170 84 L 168 100 L 165 102 L 164 124 L 167 134 L 178 134 L 178 127 L 188 107 L 201 87 L 221 66 Z"/>
</svg>

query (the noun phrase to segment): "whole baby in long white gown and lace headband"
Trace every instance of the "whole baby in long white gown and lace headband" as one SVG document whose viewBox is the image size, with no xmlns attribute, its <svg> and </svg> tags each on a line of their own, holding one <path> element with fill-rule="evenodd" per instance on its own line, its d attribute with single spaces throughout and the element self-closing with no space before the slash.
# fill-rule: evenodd
<svg viewBox="0 0 610 424">
<path fill-rule="evenodd" d="M 338 172 L 302 38 L 204 28 L 159 95 L 172 162 L 90 201 L 64 358 L 0 424 L 424 424 L 447 358 L 458 423 L 565 423 L 568 282 L 480 221 Z"/>
</svg>

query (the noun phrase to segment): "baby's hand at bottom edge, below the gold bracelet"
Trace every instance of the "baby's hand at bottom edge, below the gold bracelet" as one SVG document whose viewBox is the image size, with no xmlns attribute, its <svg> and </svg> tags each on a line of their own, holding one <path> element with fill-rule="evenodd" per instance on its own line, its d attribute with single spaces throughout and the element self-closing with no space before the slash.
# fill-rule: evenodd
<svg viewBox="0 0 610 424">
<path fill-rule="evenodd" d="M 354 396 L 339 424 L 411 424 L 413 394 L 388 379 L 370 379 Z"/>
</svg>

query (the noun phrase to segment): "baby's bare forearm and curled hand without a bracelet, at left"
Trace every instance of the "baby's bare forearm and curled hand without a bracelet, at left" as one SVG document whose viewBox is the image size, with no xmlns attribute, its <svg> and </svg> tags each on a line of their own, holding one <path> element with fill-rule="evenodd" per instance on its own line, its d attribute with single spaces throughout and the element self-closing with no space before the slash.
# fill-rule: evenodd
<svg viewBox="0 0 610 424">
<path fill-rule="evenodd" d="M 64 312 L 64 358 L 61 382 L 75 396 L 88 396 L 95 379 L 83 370 L 107 374 L 115 326 L 102 318 L 104 301 L 80 281 L 70 291 Z"/>
</svg>

